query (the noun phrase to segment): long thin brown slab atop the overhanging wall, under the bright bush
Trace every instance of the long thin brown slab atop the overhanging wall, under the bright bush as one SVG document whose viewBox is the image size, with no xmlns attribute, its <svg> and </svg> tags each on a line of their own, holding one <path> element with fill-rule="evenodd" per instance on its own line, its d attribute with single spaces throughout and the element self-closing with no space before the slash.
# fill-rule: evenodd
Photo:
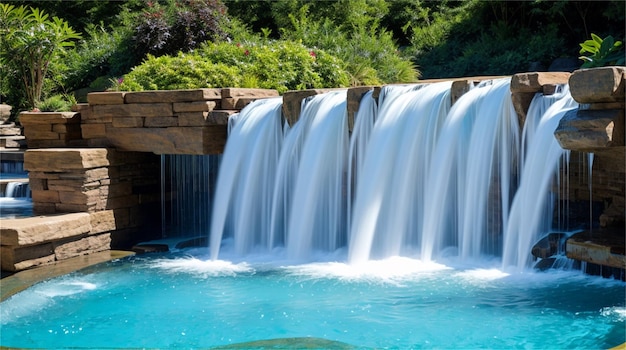
<svg viewBox="0 0 626 350">
<path fill-rule="evenodd" d="M 124 96 L 126 103 L 191 102 L 217 100 L 222 97 L 220 89 L 193 89 L 167 91 L 128 92 Z"/>
</svg>

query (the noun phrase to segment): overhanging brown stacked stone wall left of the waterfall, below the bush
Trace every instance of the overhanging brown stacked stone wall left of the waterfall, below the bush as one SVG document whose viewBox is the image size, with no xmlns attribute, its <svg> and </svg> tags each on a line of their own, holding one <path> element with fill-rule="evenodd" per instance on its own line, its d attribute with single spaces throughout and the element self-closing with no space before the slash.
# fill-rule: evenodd
<svg viewBox="0 0 626 350">
<path fill-rule="evenodd" d="M 218 154 L 226 145 L 228 117 L 265 89 L 196 89 L 96 92 L 76 107 L 89 147 L 156 154 Z"/>
</svg>

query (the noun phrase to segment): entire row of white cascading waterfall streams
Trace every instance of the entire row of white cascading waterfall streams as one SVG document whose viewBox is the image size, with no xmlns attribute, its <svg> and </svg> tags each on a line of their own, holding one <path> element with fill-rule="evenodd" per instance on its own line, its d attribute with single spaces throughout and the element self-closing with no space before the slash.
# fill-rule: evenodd
<svg viewBox="0 0 626 350">
<path fill-rule="evenodd" d="M 510 78 L 483 81 L 454 105 L 451 85 L 370 91 L 350 135 L 345 90 L 305 99 L 291 127 L 281 98 L 245 107 L 219 169 L 211 258 L 228 238 L 239 255 L 282 249 L 301 261 L 344 251 L 351 264 L 456 256 L 529 267 L 566 155 L 555 123 L 576 104 L 567 86 L 538 93 L 521 130 Z"/>
</svg>

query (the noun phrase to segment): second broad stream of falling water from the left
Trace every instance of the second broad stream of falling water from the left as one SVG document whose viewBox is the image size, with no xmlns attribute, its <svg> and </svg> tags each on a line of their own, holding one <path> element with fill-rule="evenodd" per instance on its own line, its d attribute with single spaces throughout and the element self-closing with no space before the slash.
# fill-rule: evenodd
<svg viewBox="0 0 626 350">
<path fill-rule="evenodd" d="M 346 162 L 348 121 L 346 91 L 334 91 L 307 101 L 318 104 L 302 145 L 288 218 L 287 252 L 307 259 L 312 249 L 334 251 L 345 245 Z"/>
</svg>

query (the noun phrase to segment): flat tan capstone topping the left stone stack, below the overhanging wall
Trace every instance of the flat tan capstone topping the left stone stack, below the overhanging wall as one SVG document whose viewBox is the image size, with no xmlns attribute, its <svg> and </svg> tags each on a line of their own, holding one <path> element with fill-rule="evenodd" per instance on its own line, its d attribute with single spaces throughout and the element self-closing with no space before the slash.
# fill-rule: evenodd
<svg viewBox="0 0 626 350">
<path fill-rule="evenodd" d="M 50 148 L 24 152 L 28 171 L 67 171 L 108 166 L 115 152 L 106 148 Z"/>
</svg>

